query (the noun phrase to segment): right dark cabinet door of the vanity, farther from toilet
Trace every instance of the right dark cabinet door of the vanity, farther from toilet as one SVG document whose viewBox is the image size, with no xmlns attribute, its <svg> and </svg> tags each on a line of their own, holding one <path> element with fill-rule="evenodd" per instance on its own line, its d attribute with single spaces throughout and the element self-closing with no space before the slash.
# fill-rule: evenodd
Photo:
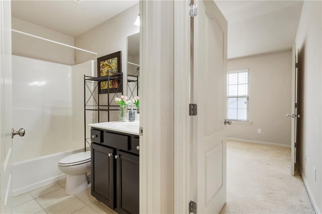
<svg viewBox="0 0 322 214">
<path fill-rule="evenodd" d="M 139 157 L 120 151 L 117 155 L 117 212 L 139 213 Z"/>
</svg>

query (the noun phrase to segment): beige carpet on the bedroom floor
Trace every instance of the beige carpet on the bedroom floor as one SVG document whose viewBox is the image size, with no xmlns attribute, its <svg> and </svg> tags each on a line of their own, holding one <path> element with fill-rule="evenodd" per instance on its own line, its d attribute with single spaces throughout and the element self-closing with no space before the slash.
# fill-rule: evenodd
<svg viewBox="0 0 322 214">
<path fill-rule="evenodd" d="M 227 202 L 220 213 L 314 213 L 288 148 L 227 141 Z"/>
</svg>

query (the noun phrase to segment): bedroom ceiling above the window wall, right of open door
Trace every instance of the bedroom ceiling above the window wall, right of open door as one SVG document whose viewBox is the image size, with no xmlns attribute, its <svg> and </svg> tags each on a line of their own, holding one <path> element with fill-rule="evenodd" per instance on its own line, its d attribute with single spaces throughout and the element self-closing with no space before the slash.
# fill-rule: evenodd
<svg viewBox="0 0 322 214">
<path fill-rule="evenodd" d="M 228 59 L 287 50 L 303 1 L 215 1 L 228 22 Z"/>
</svg>

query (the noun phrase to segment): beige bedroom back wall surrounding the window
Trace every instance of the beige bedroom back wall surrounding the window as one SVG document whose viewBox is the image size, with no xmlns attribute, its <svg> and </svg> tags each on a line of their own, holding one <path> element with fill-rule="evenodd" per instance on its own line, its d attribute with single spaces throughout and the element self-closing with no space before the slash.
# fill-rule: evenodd
<svg viewBox="0 0 322 214">
<path fill-rule="evenodd" d="M 289 146 L 291 144 L 292 52 L 228 60 L 228 71 L 249 68 L 249 120 L 251 125 L 227 126 L 227 137 Z M 262 129 L 262 134 L 257 133 Z"/>
</svg>

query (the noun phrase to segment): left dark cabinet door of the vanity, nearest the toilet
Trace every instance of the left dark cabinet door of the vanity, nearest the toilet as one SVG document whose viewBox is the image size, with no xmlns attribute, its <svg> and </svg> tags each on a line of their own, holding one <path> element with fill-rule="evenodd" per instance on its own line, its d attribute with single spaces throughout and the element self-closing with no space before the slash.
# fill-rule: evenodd
<svg viewBox="0 0 322 214">
<path fill-rule="evenodd" d="M 92 143 L 92 195 L 114 209 L 113 149 Z M 110 154 L 110 156 L 109 156 Z"/>
</svg>

